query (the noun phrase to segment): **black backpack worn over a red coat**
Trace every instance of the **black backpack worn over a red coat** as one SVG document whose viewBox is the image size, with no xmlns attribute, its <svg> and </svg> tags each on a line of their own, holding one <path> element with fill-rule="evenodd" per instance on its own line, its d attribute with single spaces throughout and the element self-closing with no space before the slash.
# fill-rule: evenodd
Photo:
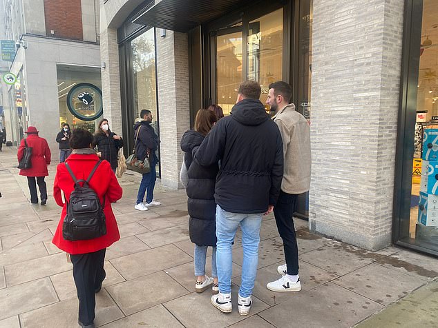
<svg viewBox="0 0 438 328">
<path fill-rule="evenodd" d="M 106 234 L 105 196 L 104 205 L 101 205 L 99 196 L 88 185 L 100 163 L 101 161 L 96 163 L 85 181 L 77 180 L 68 164 L 65 163 L 68 173 L 75 181 L 75 190 L 67 201 L 67 214 L 62 227 L 62 236 L 65 240 L 88 240 Z"/>
</svg>

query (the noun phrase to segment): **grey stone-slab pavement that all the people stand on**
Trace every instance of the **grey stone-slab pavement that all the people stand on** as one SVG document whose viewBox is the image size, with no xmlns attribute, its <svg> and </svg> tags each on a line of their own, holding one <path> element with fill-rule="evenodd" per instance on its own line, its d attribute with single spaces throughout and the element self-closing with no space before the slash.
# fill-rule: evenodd
<svg viewBox="0 0 438 328">
<path fill-rule="evenodd" d="M 15 168 L 16 149 L 0 152 L 0 328 L 77 327 L 72 266 L 50 243 L 61 208 L 51 197 L 56 163 L 46 178 L 46 206 L 29 202 L 27 180 Z M 195 292 L 193 244 L 184 190 L 160 185 L 161 206 L 134 207 L 140 176 L 120 179 L 113 204 L 122 238 L 106 252 L 106 279 L 97 294 L 97 327 L 438 327 L 438 260 L 394 246 L 367 252 L 311 234 L 296 219 L 300 253 L 298 293 L 275 293 L 283 245 L 272 215 L 263 218 L 258 275 L 249 316 L 239 316 L 241 232 L 233 249 L 234 311 L 222 314 L 211 292 Z M 211 273 L 211 250 L 207 275 Z M 421 324 L 420 324 L 421 323 Z"/>
</svg>

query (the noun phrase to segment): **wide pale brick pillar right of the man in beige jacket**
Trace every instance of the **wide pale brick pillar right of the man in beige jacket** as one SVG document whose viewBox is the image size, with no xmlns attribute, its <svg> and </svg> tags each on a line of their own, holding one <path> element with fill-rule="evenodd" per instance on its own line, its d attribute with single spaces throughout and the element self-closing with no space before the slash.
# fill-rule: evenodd
<svg viewBox="0 0 438 328">
<path fill-rule="evenodd" d="M 310 229 L 390 243 L 403 0 L 314 0 Z"/>
</svg>

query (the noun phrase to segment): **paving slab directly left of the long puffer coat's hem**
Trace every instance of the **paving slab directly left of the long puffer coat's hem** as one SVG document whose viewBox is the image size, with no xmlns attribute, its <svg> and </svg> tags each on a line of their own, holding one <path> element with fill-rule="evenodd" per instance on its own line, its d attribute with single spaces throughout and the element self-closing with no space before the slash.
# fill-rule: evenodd
<svg viewBox="0 0 438 328">
<path fill-rule="evenodd" d="M 145 232 L 144 234 L 137 234 L 137 238 L 151 248 L 160 247 L 189 239 L 189 225 L 184 223 L 183 225 L 177 225 L 176 227 Z"/>
</svg>

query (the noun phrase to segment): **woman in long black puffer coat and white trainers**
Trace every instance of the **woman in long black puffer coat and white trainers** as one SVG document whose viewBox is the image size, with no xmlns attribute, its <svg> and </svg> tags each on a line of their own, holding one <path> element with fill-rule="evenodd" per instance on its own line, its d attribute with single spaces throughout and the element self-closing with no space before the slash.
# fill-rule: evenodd
<svg viewBox="0 0 438 328">
<path fill-rule="evenodd" d="M 214 185 L 218 174 L 218 164 L 203 167 L 193 161 L 200 144 L 216 123 L 216 114 L 210 110 L 199 110 L 195 119 L 195 130 L 184 133 L 181 149 L 184 151 L 184 165 L 187 168 L 186 187 L 187 211 L 189 212 L 190 240 L 195 244 L 195 290 L 202 293 L 211 285 L 213 294 L 218 294 L 218 273 L 216 270 L 216 203 Z M 205 275 L 207 247 L 213 247 L 211 257 L 211 276 Z"/>
</svg>

